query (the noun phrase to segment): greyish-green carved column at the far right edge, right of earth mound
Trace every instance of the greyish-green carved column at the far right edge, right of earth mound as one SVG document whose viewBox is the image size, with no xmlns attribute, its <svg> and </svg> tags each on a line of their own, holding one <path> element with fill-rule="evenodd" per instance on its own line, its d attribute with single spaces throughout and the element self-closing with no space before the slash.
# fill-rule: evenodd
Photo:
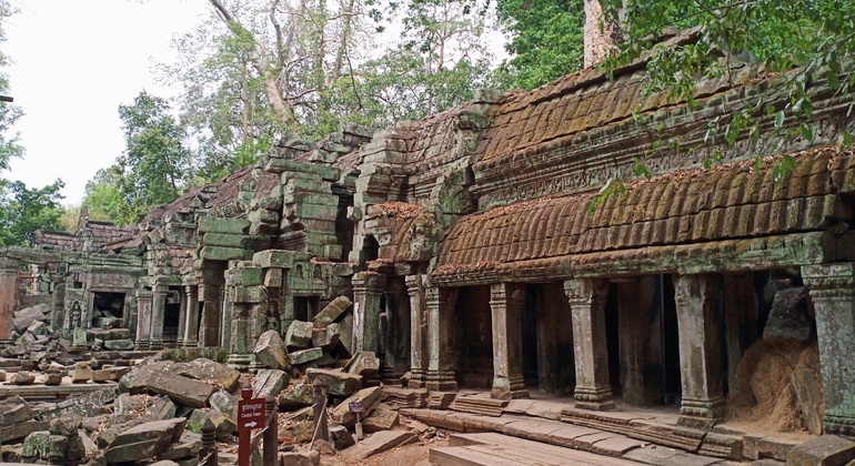
<svg viewBox="0 0 855 466">
<path fill-rule="evenodd" d="M 823 433 L 855 436 L 855 264 L 806 265 L 802 278 L 816 312 Z"/>
</svg>

